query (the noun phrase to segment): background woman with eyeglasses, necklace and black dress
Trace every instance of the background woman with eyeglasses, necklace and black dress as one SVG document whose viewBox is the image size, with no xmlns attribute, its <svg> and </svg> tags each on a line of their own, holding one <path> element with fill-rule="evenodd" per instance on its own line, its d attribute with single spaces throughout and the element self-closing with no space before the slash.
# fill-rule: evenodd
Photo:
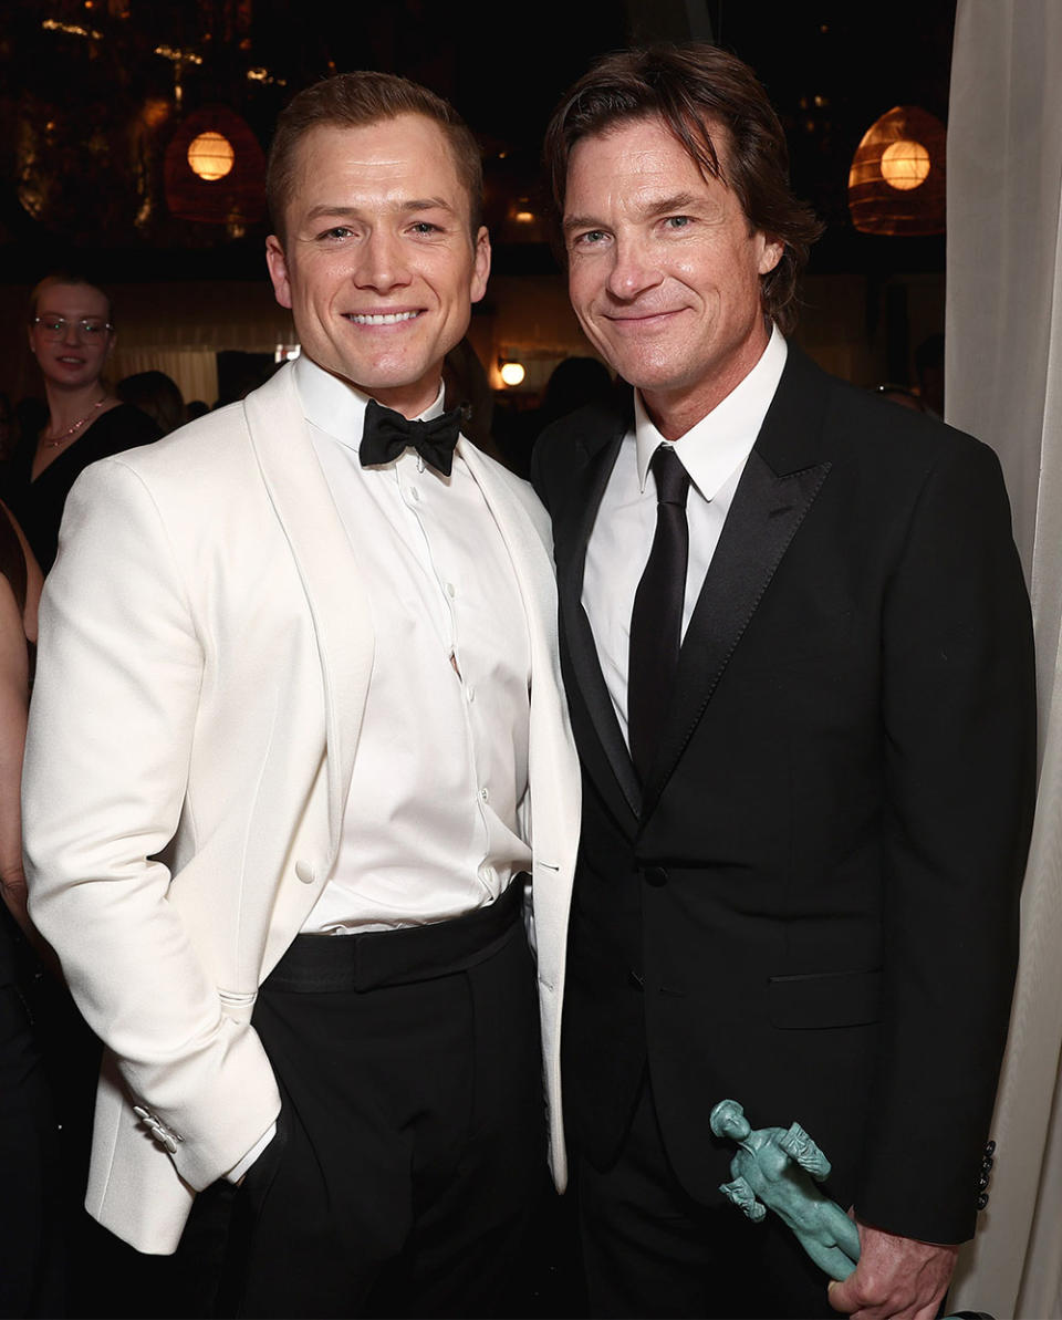
<svg viewBox="0 0 1062 1320">
<path fill-rule="evenodd" d="M 29 350 L 45 381 L 47 420 L 22 433 L 5 496 L 46 573 L 59 523 L 82 469 L 135 445 L 158 440 L 158 426 L 123 404 L 103 381 L 115 346 L 111 300 L 77 275 L 49 275 L 30 294 Z"/>
</svg>

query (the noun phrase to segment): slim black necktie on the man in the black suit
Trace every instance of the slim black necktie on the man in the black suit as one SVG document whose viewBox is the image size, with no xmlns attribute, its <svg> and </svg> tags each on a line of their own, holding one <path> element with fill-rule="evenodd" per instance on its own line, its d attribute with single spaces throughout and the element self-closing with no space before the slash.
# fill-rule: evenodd
<svg viewBox="0 0 1062 1320">
<path fill-rule="evenodd" d="M 649 471 L 657 483 L 657 529 L 631 611 L 631 667 L 627 677 L 631 758 L 642 784 L 672 696 L 690 553 L 690 529 L 686 525 L 690 475 L 669 445 L 657 449 Z"/>
</svg>

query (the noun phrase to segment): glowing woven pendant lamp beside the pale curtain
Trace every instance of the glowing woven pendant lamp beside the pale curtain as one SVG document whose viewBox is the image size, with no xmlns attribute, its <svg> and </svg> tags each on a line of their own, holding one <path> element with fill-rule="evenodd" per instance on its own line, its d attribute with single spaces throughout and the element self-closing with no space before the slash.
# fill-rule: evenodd
<svg viewBox="0 0 1062 1320">
<path fill-rule="evenodd" d="M 945 125 L 894 106 L 863 135 L 848 172 L 848 210 L 864 234 L 943 234 Z"/>
</svg>

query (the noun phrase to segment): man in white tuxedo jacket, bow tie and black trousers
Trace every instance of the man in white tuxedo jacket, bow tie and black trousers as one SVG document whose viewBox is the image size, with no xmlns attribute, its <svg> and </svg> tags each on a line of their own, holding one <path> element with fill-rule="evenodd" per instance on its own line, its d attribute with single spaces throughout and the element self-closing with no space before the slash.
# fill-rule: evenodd
<svg viewBox="0 0 1062 1320">
<path fill-rule="evenodd" d="M 268 264 L 301 359 L 87 470 L 45 593 L 25 838 L 107 1047 L 87 1205 L 166 1254 L 204 1193 L 220 1312 L 496 1313 L 540 1069 L 566 1177 L 547 521 L 441 385 L 487 282 L 480 189 L 431 92 L 299 94 Z"/>
</svg>

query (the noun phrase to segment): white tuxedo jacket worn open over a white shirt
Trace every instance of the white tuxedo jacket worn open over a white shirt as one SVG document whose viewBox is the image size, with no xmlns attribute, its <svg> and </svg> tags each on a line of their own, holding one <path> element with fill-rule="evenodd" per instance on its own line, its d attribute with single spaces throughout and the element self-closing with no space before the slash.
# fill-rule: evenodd
<svg viewBox="0 0 1062 1320">
<path fill-rule="evenodd" d="M 554 1179 L 579 772 L 549 523 L 467 441 L 532 651 L 533 933 Z M 373 634 L 290 368 L 86 470 L 41 606 L 24 771 L 30 911 L 108 1055 L 87 1206 L 173 1251 L 280 1096 L 249 1026 L 339 846 Z"/>
</svg>

